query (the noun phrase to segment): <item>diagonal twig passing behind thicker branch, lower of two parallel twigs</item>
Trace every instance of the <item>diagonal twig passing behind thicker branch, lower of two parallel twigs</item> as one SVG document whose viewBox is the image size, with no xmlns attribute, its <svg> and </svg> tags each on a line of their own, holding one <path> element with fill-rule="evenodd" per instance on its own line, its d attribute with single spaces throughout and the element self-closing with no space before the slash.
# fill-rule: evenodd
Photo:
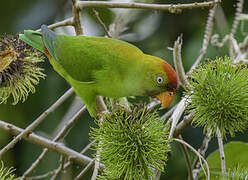
<svg viewBox="0 0 248 180">
<path fill-rule="evenodd" d="M 80 109 L 72 118 L 70 121 L 68 121 L 66 124 L 64 124 L 63 128 L 58 132 L 57 136 L 53 139 L 53 142 L 59 141 L 61 138 L 64 137 L 65 133 L 72 127 L 73 124 L 78 120 L 78 118 L 85 112 L 86 108 L 85 106 Z M 43 149 L 43 152 L 40 154 L 39 158 L 30 166 L 30 168 L 22 175 L 20 180 L 24 180 L 40 163 L 41 160 L 45 157 L 45 155 L 48 153 L 48 149 Z"/>
</svg>

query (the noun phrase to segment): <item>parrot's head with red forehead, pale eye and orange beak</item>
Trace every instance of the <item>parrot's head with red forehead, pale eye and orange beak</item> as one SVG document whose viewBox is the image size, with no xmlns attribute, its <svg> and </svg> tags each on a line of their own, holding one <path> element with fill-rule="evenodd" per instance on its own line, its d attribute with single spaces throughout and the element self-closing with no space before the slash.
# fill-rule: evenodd
<svg viewBox="0 0 248 180">
<path fill-rule="evenodd" d="M 179 88 L 179 79 L 175 70 L 166 61 L 148 56 L 149 66 L 146 81 L 149 82 L 148 95 L 155 95 L 162 103 L 162 109 L 165 109 L 173 100 L 176 91 Z"/>
</svg>

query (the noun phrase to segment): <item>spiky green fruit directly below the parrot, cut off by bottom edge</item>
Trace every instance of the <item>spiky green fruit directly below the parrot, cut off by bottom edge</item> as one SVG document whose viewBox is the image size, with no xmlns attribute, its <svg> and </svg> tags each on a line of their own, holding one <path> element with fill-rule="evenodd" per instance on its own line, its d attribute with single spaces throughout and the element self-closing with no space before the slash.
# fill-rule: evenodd
<svg viewBox="0 0 248 180">
<path fill-rule="evenodd" d="M 168 128 L 156 112 L 119 109 L 97 124 L 91 135 L 106 167 L 99 178 L 144 180 L 154 176 L 152 170 L 164 170 L 170 141 Z"/>
</svg>

